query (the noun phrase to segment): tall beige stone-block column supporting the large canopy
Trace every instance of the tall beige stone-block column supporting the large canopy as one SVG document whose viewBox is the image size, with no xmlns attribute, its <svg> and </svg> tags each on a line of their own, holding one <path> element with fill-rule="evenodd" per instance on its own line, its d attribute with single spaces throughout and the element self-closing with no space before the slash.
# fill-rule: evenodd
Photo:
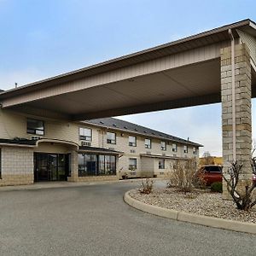
<svg viewBox="0 0 256 256">
<path fill-rule="evenodd" d="M 224 175 L 233 162 L 233 147 L 236 147 L 236 160 L 242 165 L 239 189 L 252 182 L 250 166 L 252 150 L 251 114 L 251 65 L 249 49 L 245 44 L 235 45 L 235 84 L 236 84 L 236 145 L 233 145 L 232 125 L 232 73 L 231 48 L 221 49 L 221 99 Z M 227 177 L 227 176 L 226 176 Z M 226 183 L 223 181 L 224 199 L 228 199 Z"/>
</svg>

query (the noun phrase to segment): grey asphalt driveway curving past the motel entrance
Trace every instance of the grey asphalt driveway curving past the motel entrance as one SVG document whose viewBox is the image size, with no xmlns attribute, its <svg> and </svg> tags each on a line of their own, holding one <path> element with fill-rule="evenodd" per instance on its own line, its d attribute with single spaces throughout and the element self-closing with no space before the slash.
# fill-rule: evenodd
<svg viewBox="0 0 256 256">
<path fill-rule="evenodd" d="M 256 236 L 125 204 L 135 183 L 0 191 L 0 255 L 255 255 Z"/>
</svg>

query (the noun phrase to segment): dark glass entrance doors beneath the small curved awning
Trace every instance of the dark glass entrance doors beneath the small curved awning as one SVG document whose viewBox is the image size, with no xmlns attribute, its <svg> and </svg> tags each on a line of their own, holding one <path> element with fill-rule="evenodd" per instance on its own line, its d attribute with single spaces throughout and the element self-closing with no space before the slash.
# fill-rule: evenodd
<svg viewBox="0 0 256 256">
<path fill-rule="evenodd" d="M 68 171 L 68 154 L 34 154 L 35 181 L 65 181 Z"/>
</svg>

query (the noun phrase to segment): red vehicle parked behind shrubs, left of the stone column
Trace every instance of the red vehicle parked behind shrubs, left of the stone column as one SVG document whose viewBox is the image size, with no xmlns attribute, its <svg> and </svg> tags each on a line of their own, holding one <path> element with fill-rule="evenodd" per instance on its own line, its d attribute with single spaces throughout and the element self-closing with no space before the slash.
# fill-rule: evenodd
<svg viewBox="0 0 256 256">
<path fill-rule="evenodd" d="M 222 182 L 223 166 L 202 166 L 199 175 L 205 180 L 206 185 L 210 186 L 215 182 Z"/>
</svg>

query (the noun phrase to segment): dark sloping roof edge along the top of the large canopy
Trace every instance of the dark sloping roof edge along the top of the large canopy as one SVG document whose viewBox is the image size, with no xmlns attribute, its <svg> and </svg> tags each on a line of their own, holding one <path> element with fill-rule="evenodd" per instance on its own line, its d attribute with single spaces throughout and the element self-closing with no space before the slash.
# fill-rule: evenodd
<svg viewBox="0 0 256 256">
<path fill-rule="evenodd" d="M 43 80 L 39 80 L 39 81 L 30 83 L 30 84 L 22 85 L 22 86 L 17 87 L 17 88 L 4 90 L 3 92 L 0 92 L 0 98 L 3 98 L 4 96 L 12 94 L 14 92 L 24 90 L 26 88 L 32 88 L 32 87 L 34 87 L 36 85 L 39 85 L 39 84 L 44 84 L 44 83 L 47 83 L 47 82 L 50 82 L 50 81 L 56 81 L 57 82 L 59 79 L 62 79 L 62 78 L 65 78 L 65 77 L 68 77 L 68 76 L 71 76 L 71 75 L 75 75 L 75 74 L 78 74 L 78 73 L 84 73 L 84 72 L 92 70 L 92 69 L 96 69 L 96 68 L 103 67 L 103 66 L 108 66 L 109 64 L 113 64 L 115 62 L 128 60 L 128 59 L 131 59 L 131 58 L 136 57 L 138 55 L 146 55 L 148 53 L 157 51 L 159 49 L 164 49 L 164 48 L 171 47 L 171 46 L 174 46 L 174 45 L 177 45 L 177 44 L 183 44 L 183 43 L 186 43 L 186 42 L 198 39 L 198 38 L 204 38 L 204 37 L 216 34 L 218 32 L 224 32 L 224 31 L 228 31 L 229 29 L 239 28 L 241 26 L 251 26 L 253 29 L 256 30 L 256 23 L 253 20 L 250 20 L 250 19 L 240 20 L 240 21 L 237 21 L 235 23 L 231 23 L 229 25 L 219 26 L 217 28 L 213 28 L 212 30 L 209 30 L 207 32 L 200 32 L 198 34 L 195 34 L 195 35 L 192 35 L 192 36 L 189 36 L 189 37 L 181 38 L 181 39 L 178 39 L 176 41 L 172 41 L 171 43 L 160 44 L 158 46 L 148 48 L 148 49 L 143 49 L 141 51 L 137 51 L 137 52 L 129 54 L 129 55 L 123 55 L 123 56 L 120 56 L 118 58 L 114 58 L 114 59 L 111 59 L 111 60 L 108 60 L 108 61 L 102 61 L 98 64 L 91 65 L 89 67 L 79 68 L 79 69 L 74 70 L 72 72 L 61 73 L 60 75 L 56 75 L 56 76 L 50 77 L 48 79 L 43 79 Z M 125 67 L 125 65 L 124 65 L 124 67 Z M 101 73 L 101 72 L 99 72 L 99 73 Z"/>
</svg>

